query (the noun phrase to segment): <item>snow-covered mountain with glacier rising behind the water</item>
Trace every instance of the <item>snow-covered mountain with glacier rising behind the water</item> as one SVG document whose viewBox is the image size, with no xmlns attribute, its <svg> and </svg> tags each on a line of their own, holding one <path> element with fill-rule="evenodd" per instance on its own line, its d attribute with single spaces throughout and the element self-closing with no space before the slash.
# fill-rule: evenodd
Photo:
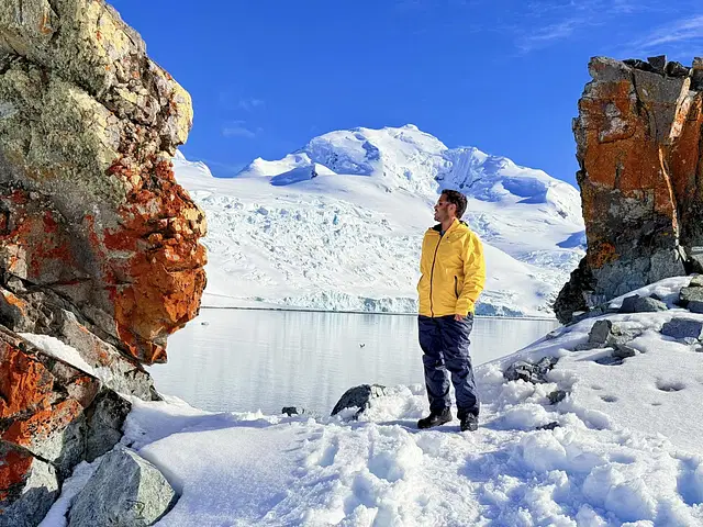
<svg viewBox="0 0 703 527">
<path fill-rule="evenodd" d="M 204 305 L 412 312 L 422 236 L 445 188 L 467 194 L 464 218 L 484 243 L 479 314 L 550 314 L 583 255 L 573 187 L 413 125 L 332 132 L 233 179 L 174 162 L 208 215 Z"/>
</svg>

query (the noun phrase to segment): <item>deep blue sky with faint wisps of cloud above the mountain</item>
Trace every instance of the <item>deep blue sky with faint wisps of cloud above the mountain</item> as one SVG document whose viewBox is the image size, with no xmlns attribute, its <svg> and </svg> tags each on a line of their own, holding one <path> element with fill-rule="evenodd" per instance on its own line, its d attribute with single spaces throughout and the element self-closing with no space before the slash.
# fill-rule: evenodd
<svg viewBox="0 0 703 527">
<path fill-rule="evenodd" d="M 703 55 L 689 0 L 112 0 L 191 93 L 183 147 L 220 177 L 315 135 L 412 123 L 574 183 L 594 55 Z"/>
</svg>

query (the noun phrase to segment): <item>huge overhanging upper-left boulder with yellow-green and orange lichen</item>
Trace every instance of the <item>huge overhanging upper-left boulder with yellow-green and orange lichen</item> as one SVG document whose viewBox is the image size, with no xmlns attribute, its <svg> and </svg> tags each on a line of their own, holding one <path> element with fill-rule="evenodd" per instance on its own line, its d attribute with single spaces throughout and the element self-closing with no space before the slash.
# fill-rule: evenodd
<svg viewBox="0 0 703 527">
<path fill-rule="evenodd" d="M 170 164 L 191 122 L 103 1 L 0 7 L 0 267 L 145 363 L 166 360 L 205 284 L 204 215 Z"/>
</svg>

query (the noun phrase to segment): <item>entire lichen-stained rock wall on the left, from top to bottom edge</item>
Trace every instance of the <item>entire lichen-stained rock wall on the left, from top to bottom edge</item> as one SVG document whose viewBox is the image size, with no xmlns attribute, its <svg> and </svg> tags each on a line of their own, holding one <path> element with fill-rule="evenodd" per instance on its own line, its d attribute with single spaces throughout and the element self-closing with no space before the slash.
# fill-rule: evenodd
<svg viewBox="0 0 703 527">
<path fill-rule="evenodd" d="M 0 526 L 36 525 L 120 440 L 120 394 L 158 397 L 142 365 L 205 285 L 204 215 L 170 164 L 191 122 L 103 0 L 1 2 Z"/>
</svg>

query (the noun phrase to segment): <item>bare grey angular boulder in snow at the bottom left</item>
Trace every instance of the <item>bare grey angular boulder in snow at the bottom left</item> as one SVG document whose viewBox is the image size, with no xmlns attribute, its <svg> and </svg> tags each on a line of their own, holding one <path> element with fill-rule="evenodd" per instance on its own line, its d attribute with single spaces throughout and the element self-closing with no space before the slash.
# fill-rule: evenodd
<svg viewBox="0 0 703 527">
<path fill-rule="evenodd" d="M 176 492 L 156 467 L 118 447 L 76 496 L 68 527 L 154 525 L 176 501 Z"/>
</svg>

